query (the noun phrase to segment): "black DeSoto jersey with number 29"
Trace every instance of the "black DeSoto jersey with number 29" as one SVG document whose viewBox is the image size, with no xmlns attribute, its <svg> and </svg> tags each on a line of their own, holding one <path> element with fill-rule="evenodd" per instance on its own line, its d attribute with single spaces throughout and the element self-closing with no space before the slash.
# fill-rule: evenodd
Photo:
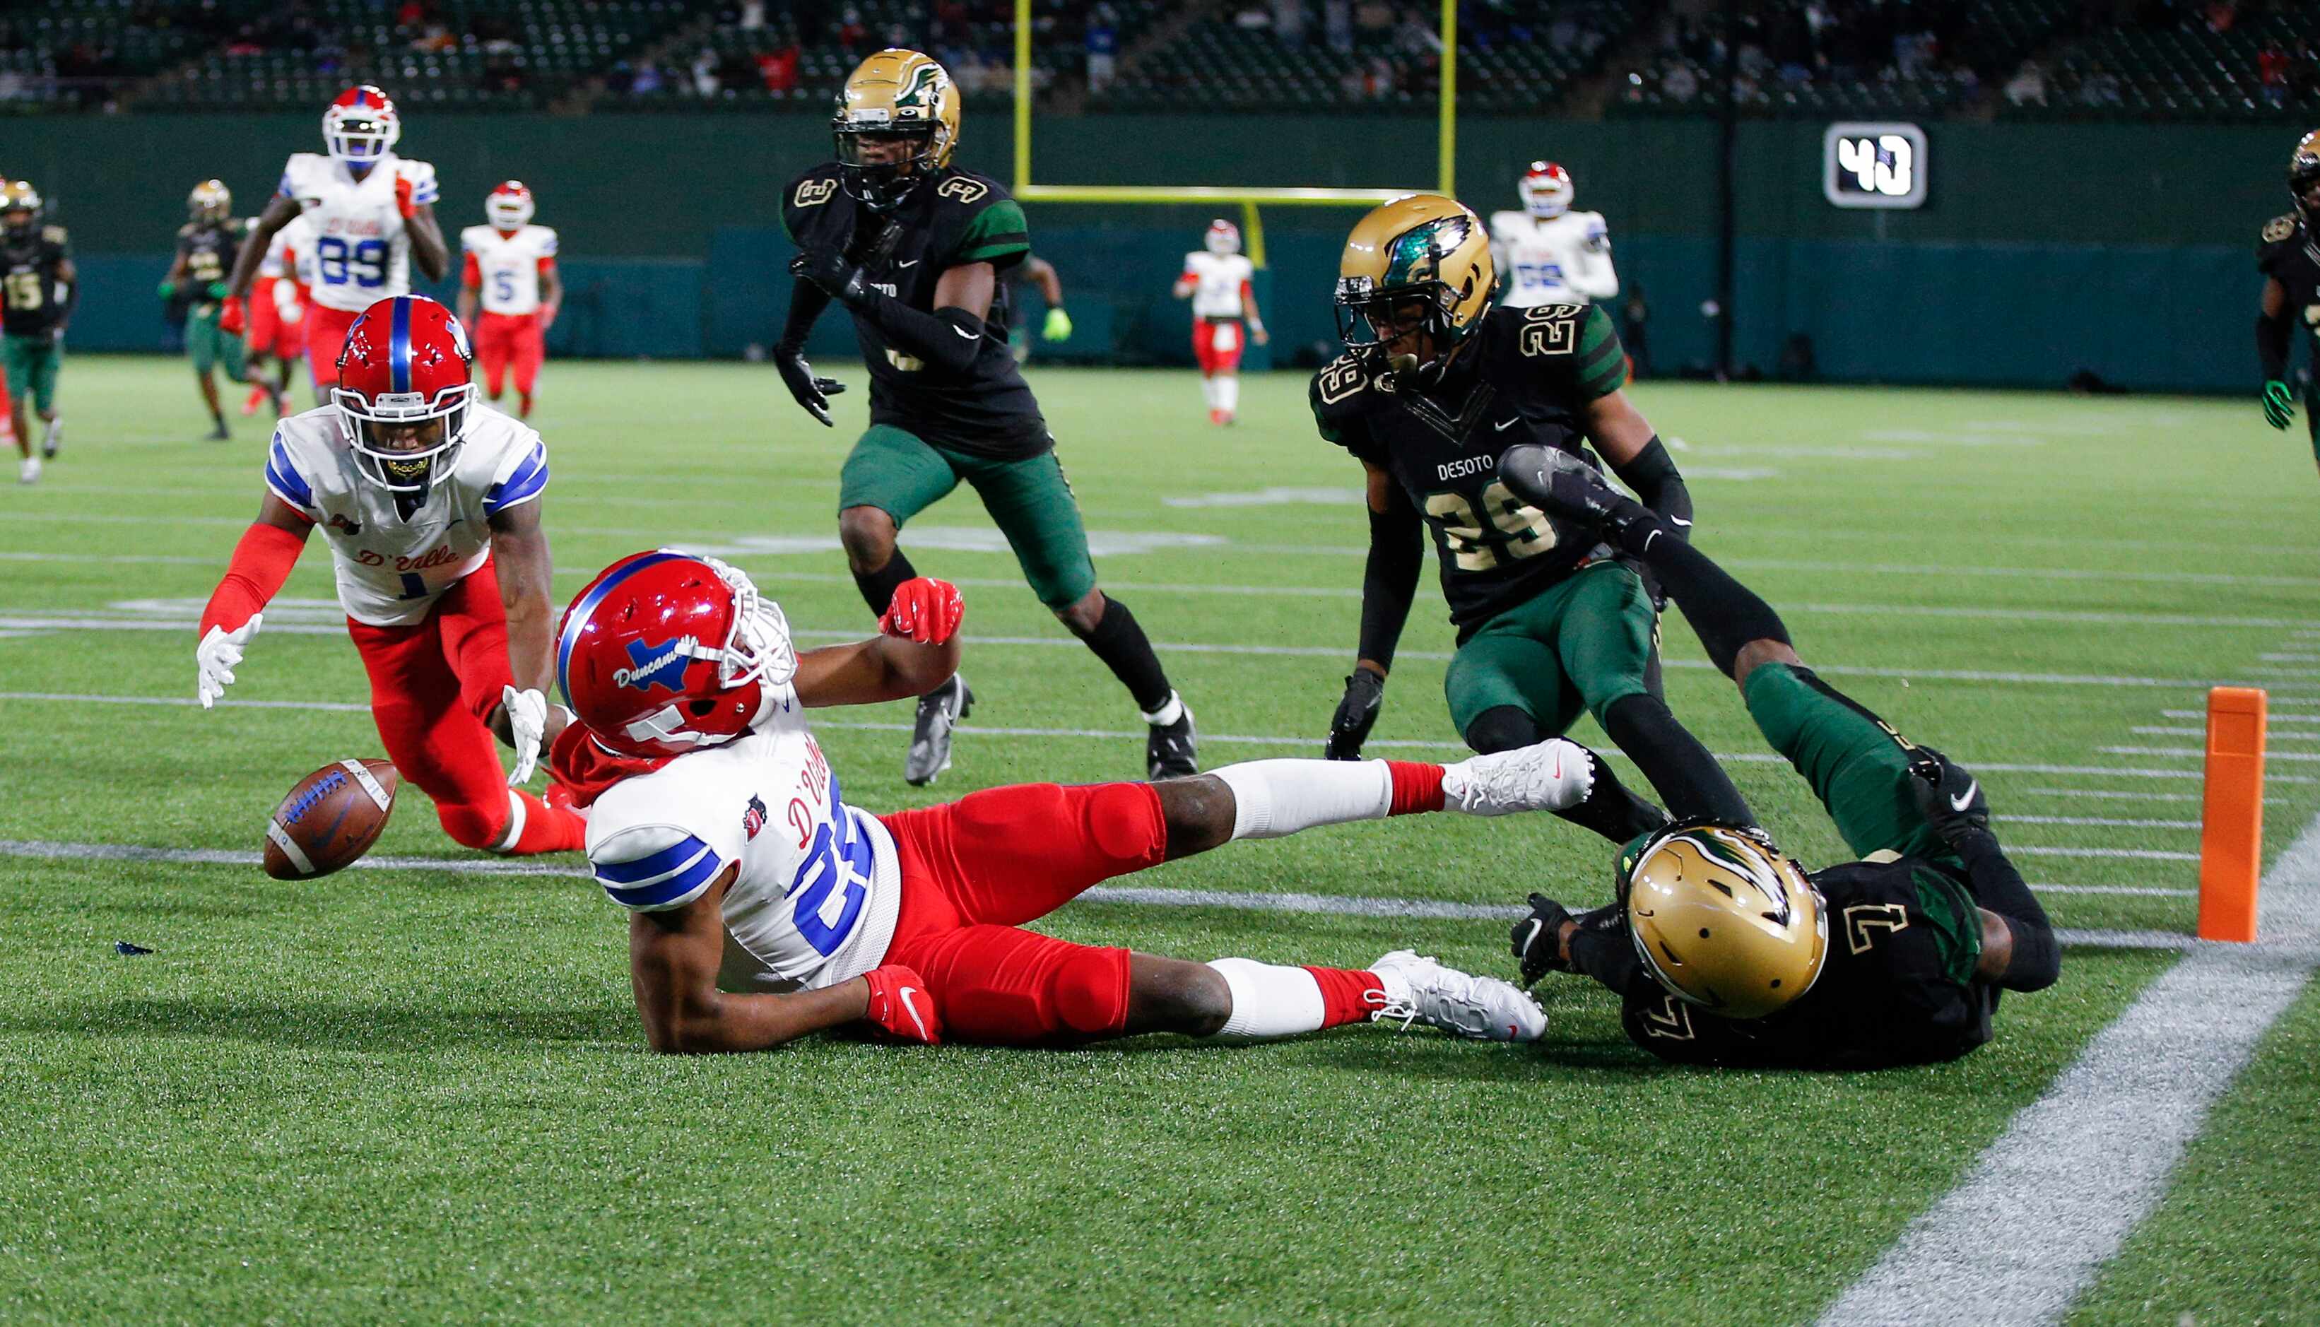
<svg viewBox="0 0 2320 1327">
<path fill-rule="evenodd" d="M 1320 436 L 1383 469 L 1434 534 L 1450 622 L 1473 629 L 1571 575 L 1601 545 L 1499 483 L 1499 452 L 1545 443 L 1585 455 L 1587 404 L 1626 380 L 1626 353 L 1592 304 L 1494 309 L 1476 343 L 1427 392 L 1380 385 L 1341 355 L 1313 376 Z"/>
</svg>

